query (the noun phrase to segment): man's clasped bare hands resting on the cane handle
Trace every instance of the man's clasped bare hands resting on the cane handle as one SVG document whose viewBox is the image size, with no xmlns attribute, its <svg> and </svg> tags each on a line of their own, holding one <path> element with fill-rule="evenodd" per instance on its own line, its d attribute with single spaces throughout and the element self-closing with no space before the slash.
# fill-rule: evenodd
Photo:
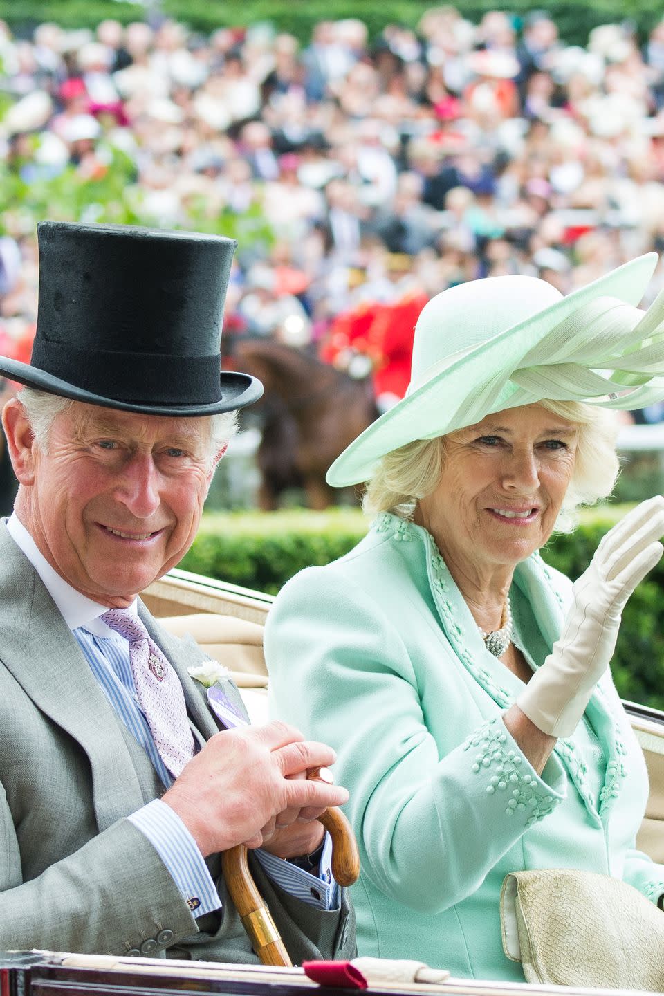
<svg viewBox="0 0 664 996">
<path fill-rule="evenodd" d="M 306 777 L 308 769 L 326 767 L 334 757 L 332 747 L 305 740 L 286 723 L 224 730 L 186 765 L 163 802 L 182 820 L 204 858 L 237 844 L 258 848 L 264 831 L 280 849 L 275 853 L 296 857 L 318 845 L 310 848 L 303 838 L 299 850 L 286 855 L 281 836 L 274 840 L 276 834 L 288 832 L 295 841 L 298 835 L 288 828 L 307 826 L 298 820 L 315 820 L 328 806 L 347 801 L 340 786 Z M 287 826 L 277 828 L 277 823 Z M 323 828 L 309 826 L 320 844 Z"/>
</svg>

